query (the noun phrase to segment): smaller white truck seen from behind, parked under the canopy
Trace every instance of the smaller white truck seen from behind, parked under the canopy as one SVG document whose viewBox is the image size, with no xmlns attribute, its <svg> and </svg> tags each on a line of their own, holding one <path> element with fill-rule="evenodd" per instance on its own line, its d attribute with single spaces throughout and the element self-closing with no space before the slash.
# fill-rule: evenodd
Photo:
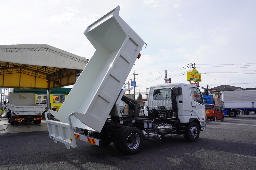
<svg viewBox="0 0 256 170">
<path fill-rule="evenodd" d="M 7 108 L 8 122 L 18 125 L 19 121 L 34 122 L 40 124 L 43 119 L 45 106 L 35 103 L 36 96 L 33 93 L 10 93 Z"/>
</svg>

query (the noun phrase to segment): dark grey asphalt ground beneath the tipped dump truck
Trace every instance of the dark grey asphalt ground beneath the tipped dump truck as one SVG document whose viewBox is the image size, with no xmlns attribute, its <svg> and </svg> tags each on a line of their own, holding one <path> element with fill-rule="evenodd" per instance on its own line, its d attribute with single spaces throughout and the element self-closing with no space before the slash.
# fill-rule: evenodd
<svg viewBox="0 0 256 170">
<path fill-rule="evenodd" d="M 28 126 L 32 127 L 25 130 Z M 16 128 L 16 132 L 13 133 L 15 130 L 10 127 Z M 136 155 L 118 152 L 113 143 L 99 147 L 80 140 L 76 141 L 77 148 L 69 151 L 64 144 L 53 142 L 45 121 L 39 125 L 24 122 L 24 125 L 19 123 L 10 127 L 5 133 L 0 132 L 1 170 L 251 170 L 256 167 L 255 115 L 225 116 L 224 122 L 207 121 L 206 131 L 200 131 L 200 137 L 194 143 L 187 142 L 182 136 L 145 140 L 143 149 Z M 18 128 L 30 131 L 18 132 Z"/>
</svg>

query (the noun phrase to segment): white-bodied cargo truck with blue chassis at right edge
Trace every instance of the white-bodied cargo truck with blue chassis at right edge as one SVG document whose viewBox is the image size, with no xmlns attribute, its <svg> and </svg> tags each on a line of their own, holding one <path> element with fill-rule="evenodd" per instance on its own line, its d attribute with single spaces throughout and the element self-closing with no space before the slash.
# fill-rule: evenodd
<svg viewBox="0 0 256 170">
<path fill-rule="evenodd" d="M 255 112 L 256 90 L 221 91 L 220 105 L 224 115 L 235 117 L 243 110 L 245 114 Z"/>
</svg>

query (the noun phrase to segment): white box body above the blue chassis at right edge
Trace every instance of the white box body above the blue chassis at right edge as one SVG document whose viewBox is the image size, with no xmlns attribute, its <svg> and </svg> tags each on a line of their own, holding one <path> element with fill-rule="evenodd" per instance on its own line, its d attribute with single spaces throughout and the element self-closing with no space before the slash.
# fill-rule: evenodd
<svg viewBox="0 0 256 170">
<path fill-rule="evenodd" d="M 256 90 L 220 92 L 223 108 L 255 108 Z"/>
</svg>

